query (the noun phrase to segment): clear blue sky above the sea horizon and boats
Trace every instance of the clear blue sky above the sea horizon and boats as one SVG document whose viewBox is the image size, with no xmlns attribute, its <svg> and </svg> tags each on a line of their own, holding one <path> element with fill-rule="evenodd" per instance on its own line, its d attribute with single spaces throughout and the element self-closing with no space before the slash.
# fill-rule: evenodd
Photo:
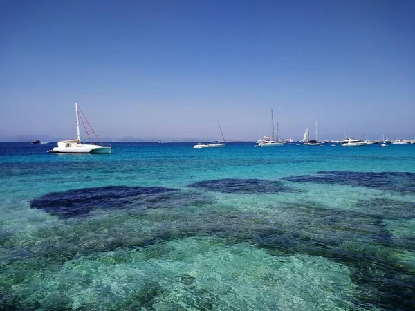
<svg viewBox="0 0 415 311">
<path fill-rule="evenodd" d="M 0 140 L 415 138 L 415 1 L 0 1 Z M 313 136 L 313 135 L 312 135 Z"/>
</svg>

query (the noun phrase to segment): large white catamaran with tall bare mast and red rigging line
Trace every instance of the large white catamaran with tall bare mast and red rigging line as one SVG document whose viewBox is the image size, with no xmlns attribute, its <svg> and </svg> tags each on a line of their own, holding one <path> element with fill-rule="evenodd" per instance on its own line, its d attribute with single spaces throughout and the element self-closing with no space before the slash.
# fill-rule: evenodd
<svg viewBox="0 0 415 311">
<path fill-rule="evenodd" d="M 57 146 L 53 148 L 52 150 L 49 150 L 48 152 L 50 153 L 111 153 L 111 147 L 109 146 L 101 146 L 101 145 L 93 144 L 93 143 L 83 144 L 81 142 L 79 113 L 78 113 L 78 106 L 76 102 L 75 102 L 75 111 L 76 111 L 77 139 L 76 140 L 60 140 L 59 142 L 57 142 Z M 82 115 L 84 114 L 82 113 Z M 86 120 L 86 122 L 89 124 L 88 120 Z M 91 127 L 91 125 L 89 126 Z M 92 128 L 91 130 L 93 131 Z M 95 134 L 94 131 L 93 133 Z"/>
</svg>

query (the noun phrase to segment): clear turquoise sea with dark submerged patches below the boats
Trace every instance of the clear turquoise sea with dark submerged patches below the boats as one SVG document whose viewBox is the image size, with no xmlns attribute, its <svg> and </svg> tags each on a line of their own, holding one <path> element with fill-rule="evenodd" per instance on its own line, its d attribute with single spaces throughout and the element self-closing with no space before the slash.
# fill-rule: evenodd
<svg viewBox="0 0 415 311">
<path fill-rule="evenodd" d="M 414 310 L 415 144 L 0 143 L 0 310 Z"/>
</svg>

